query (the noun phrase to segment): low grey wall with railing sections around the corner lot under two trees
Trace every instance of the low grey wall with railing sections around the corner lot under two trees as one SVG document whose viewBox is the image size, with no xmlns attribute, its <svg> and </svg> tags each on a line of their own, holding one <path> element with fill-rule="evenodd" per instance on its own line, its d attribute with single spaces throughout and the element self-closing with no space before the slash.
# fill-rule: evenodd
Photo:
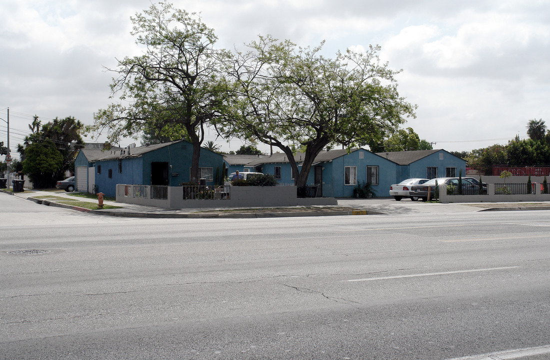
<svg viewBox="0 0 550 360">
<path fill-rule="evenodd" d="M 117 185 L 117 202 L 167 209 L 337 205 L 333 197 L 298 198 L 296 186 L 231 186 L 229 199 L 183 200 L 183 187 L 169 186 L 166 199 L 133 197 Z M 125 195 L 128 193 L 129 195 Z"/>
</svg>

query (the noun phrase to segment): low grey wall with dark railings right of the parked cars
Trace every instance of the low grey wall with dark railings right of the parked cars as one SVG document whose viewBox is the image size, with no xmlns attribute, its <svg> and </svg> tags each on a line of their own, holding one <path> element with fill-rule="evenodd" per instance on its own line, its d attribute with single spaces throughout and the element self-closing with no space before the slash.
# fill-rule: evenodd
<svg viewBox="0 0 550 360">
<path fill-rule="evenodd" d="M 482 180 L 485 182 L 485 179 L 482 178 Z M 461 202 L 550 201 L 550 194 L 541 193 L 541 185 L 535 182 L 533 184 L 535 184 L 535 193 L 524 195 L 495 195 L 494 184 L 487 184 L 487 195 L 447 195 L 447 185 L 442 184 L 439 185 L 439 202 L 447 204 Z"/>
</svg>

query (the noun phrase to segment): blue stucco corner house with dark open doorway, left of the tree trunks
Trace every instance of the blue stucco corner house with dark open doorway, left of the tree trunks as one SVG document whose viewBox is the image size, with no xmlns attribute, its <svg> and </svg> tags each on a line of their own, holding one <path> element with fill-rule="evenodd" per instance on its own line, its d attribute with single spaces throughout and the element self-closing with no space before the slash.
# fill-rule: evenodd
<svg viewBox="0 0 550 360">
<path fill-rule="evenodd" d="M 190 180 L 193 145 L 187 141 L 116 149 L 81 149 L 75 159 L 76 189 L 116 196 L 117 184 L 178 186 Z M 201 178 L 214 185 L 223 156 L 201 148 Z M 86 189 L 86 190 L 84 190 Z"/>
</svg>

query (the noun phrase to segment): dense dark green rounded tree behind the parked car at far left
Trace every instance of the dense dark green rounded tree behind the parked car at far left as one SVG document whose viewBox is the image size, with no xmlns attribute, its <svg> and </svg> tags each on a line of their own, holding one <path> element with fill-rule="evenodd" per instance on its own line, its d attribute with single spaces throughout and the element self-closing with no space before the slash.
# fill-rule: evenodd
<svg viewBox="0 0 550 360">
<path fill-rule="evenodd" d="M 63 154 L 53 141 L 31 143 L 25 147 L 23 172 L 29 176 L 35 187 L 53 187 L 56 174 L 63 167 Z"/>
</svg>

